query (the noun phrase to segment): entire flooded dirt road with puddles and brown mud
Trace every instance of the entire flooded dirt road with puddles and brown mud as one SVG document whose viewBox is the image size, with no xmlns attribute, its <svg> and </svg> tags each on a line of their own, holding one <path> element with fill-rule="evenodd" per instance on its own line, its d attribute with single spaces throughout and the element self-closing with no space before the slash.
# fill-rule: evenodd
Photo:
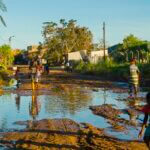
<svg viewBox="0 0 150 150">
<path fill-rule="evenodd" d="M 43 75 L 38 89 L 34 91 L 28 69 L 22 69 L 20 79 L 19 88 L 16 88 L 15 84 L 9 88 L 5 87 L 0 96 L 1 143 L 6 142 L 5 144 L 11 147 L 26 149 L 31 145 L 31 149 L 147 149 L 146 145 L 137 139 L 143 119 L 143 114 L 138 109 L 145 104 L 145 92 L 141 92 L 138 99 L 131 100 L 127 98 L 126 84 L 102 81 L 98 77 L 66 73 L 63 70 L 51 70 L 49 75 Z M 55 129 L 53 127 L 56 127 L 56 118 L 59 119 Z M 59 130 L 62 118 L 70 119 L 69 124 L 79 127 L 76 132 L 86 132 L 86 135 L 77 134 L 72 138 L 70 135 L 58 136 L 57 132 L 50 136 L 49 132 L 38 131 L 50 131 L 52 128 Z M 45 120 L 43 125 L 39 125 L 42 119 L 48 121 Z M 68 124 L 68 119 L 64 124 Z M 69 125 L 64 128 L 68 132 L 72 130 Z M 22 133 L 24 129 L 32 129 L 35 132 Z M 98 137 L 94 136 L 93 132 L 96 132 Z M 44 137 L 42 141 L 40 137 Z M 62 141 L 62 144 L 56 142 L 64 138 L 66 140 Z M 20 140 L 23 141 L 19 142 Z"/>
</svg>

